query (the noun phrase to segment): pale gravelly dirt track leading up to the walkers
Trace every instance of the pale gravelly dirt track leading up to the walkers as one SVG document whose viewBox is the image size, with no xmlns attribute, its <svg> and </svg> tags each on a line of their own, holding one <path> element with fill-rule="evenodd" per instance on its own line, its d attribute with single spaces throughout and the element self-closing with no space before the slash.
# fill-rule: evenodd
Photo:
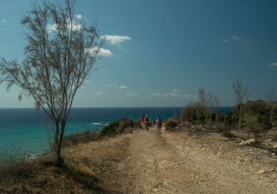
<svg viewBox="0 0 277 194">
<path fill-rule="evenodd" d="M 195 149 L 184 134 L 136 130 L 116 171 L 123 193 L 277 193 L 276 179 L 247 173 Z M 220 148 L 221 149 L 221 148 Z"/>
</svg>

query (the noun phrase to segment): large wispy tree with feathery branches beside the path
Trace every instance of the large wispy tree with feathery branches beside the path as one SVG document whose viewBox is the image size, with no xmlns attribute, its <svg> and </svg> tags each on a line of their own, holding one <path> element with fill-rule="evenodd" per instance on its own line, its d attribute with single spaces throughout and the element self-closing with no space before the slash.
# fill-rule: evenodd
<svg viewBox="0 0 277 194">
<path fill-rule="evenodd" d="M 62 140 L 73 98 L 93 70 L 104 39 L 97 24 L 87 27 L 76 19 L 75 1 L 64 6 L 44 1 L 32 4 L 21 24 L 26 26 L 27 44 L 22 62 L 0 60 L 0 82 L 7 89 L 17 85 L 22 96 L 35 100 L 55 125 L 54 148 L 57 164 L 62 165 Z"/>
</svg>

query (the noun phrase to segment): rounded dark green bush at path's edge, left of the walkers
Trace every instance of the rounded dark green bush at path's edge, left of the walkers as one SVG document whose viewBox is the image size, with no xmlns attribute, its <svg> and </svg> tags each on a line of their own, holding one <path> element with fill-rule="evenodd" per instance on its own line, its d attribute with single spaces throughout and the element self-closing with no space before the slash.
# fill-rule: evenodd
<svg viewBox="0 0 277 194">
<path fill-rule="evenodd" d="M 105 126 L 100 132 L 100 136 L 113 136 L 116 134 L 122 134 L 123 132 L 129 132 L 129 128 L 134 127 L 134 122 L 131 118 L 121 118 L 118 121 L 114 121 Z"/>
</svg>

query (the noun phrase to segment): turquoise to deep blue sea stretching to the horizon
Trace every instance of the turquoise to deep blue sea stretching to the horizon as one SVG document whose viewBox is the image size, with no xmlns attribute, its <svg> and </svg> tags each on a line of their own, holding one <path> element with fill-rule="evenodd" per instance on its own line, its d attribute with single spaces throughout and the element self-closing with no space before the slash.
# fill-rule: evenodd
<svg viewBox="0 0 277 194">
<path fill-rule="evenodd" d="M 177 118 L 183 107 L 95 107 L 72 108 L 66 123 L 65 135 L 85 130 L 99 131 L 109 123 L 123 117 L 139 121 L 147 114 L 157 117 Z M 226 113 L 233 107 L 220 107 Z M 48 152 L 53 140 L 54 126 L 42 109 L 0 108 L 0 157 L 24 152 L 37 156 Z"/>
</svg>

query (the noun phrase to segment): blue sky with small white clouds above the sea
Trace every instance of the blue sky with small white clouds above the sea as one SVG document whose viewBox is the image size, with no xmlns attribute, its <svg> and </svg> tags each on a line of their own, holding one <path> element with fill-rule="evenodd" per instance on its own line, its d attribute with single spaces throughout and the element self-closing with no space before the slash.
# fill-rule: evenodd
<svg viewBox="0 0 277 194">
<path fill-rule="evenodd" d="M 277 90 L 276 9 L 275 0 L 78 0 L 76 18 L 97 18 L 106 42 L 73 107 L 182 107 L 201 87 L 233 106 L 237 78 L 249 100 L 265 99 Z M 30 1 L 1 1 L 0 57 L 24 59 L 26 10 Z M 19 91 L 0 85 L 0 108 L 33 107 Z"/>
</svg>

